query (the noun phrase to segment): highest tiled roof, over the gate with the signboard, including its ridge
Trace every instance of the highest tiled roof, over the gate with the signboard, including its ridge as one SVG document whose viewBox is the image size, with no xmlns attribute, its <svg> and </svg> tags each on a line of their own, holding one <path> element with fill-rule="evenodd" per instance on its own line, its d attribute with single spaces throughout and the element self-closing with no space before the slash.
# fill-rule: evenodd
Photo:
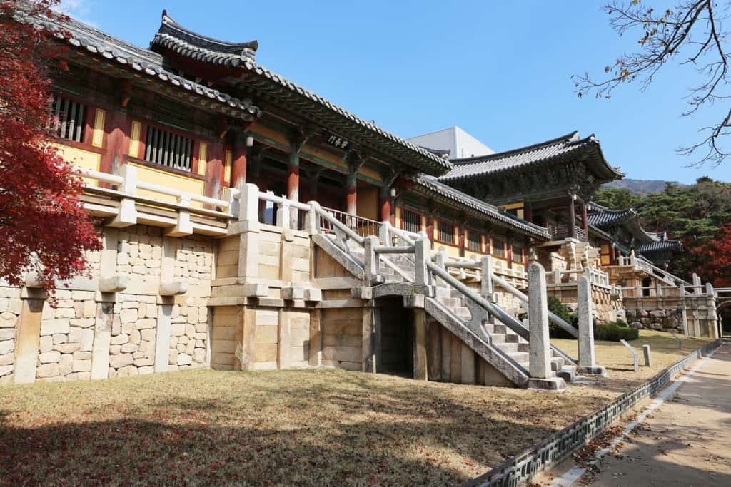
<svg viewBox="0 0 731 487">
<path fill-rule="evenodd" d="M 170 19 L 170 17 L 165 12 L 163 13 L 162 26 L 151 42 L 152 47 L 166 47 L 175 53 L 186 55 L 197 61 L 246 69 L 249 75 L 244 83 L 257 91 L 262 91 L 268 96 L 278 99 L 283 106 L 296 110 L 299 114 L 310 118 L 315 123 L 323 123 L 327 129 L 341 132 L 338 134 L 341 137 L 350 140 L 356 139 L 354 142 L 367 142 L 390 156 L 398 158 L 404 164 L 428 174 L 442 175 L 452 169 L 452 164 L 447 159 L 391 134 L 381 129 L 372 120 L 363 120 L 363 118 L 359 118 L 338 107 L 338 105 L 319 96 L 317 93 L 308 91 L 261 64 L 257 64 L 254 61 L 253 47 L 251 55 L 241 56 L 212 50 L 211 45 L 202 43 L 198 39 L 206 39 L 207 42 L 222 42 L 194 34 L 177 23 L 174 24 L 174 28 L 170 23 L 166 25 L 165 18 Z M 191 36 L 194 39 L 191 39 Z"/>
</svg>

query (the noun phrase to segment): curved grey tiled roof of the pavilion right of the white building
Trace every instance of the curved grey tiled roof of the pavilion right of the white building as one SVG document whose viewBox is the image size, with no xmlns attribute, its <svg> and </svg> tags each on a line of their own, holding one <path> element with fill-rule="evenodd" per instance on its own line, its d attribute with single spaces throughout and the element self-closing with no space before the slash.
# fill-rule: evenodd
<svg viewBox="0 0 731 487">
<path fill-rule="evenodd" d="M 600 180 L 615 180 L 624 176 L 617 168 L 607 164 L 594 135 L 584 139 L 578 132 L 551 139 L 539 144 L 520 147 L 519 149 L 499 152 L 488 156 L 464 159 L 452 159 L 454 169 L 439 177 L 442 181 L 463 180 L 476 175 L 491 175 L 500 172 L 520 169 L 533 164 L 554 161 L 569 156 L 583 154 L 591 164 L 594 174 Z"/>
</svg>

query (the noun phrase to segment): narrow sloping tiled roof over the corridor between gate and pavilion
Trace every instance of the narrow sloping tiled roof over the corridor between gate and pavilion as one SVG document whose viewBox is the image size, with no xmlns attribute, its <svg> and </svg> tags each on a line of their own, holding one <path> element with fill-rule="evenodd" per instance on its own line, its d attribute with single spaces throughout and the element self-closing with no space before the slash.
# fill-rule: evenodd
<svg viewBox="0 0 731 487">
<path fill-rule="evenodd" d="M 538 239 L 550 240 L 550 233 L 548 233 L 548 229 L 510 215 L 510 213 L 500 210 L 492 204 L 482 202 L 477 198 L 469 196 L 469 194 L 465 194 L 451 186 L 440 183 L 435 177 L 419 175 L 413 177 L 412 180 L 414 183 L 417 183 L 417 191 L 421 189 L 422 191 L 431 194 L 431 196 L 436 196 L 439 199 L 442 199 L 442 201 L 452 204 L 456 203 L 467 210 L 477 212 L 477 214 L 482 217 L 487 217 L 489 221 L 496 223 L 499 226 L 508 229 L 517 229 L 518 231 L 529 234 L 531 237 L 536 237 Z"/>
</svg>

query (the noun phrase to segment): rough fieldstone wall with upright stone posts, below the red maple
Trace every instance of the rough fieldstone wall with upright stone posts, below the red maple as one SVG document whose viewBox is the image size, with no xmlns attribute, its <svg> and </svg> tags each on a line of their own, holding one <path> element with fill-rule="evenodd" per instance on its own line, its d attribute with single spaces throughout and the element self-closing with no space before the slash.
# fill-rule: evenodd
<svg viewBox="0 0 731 487">
<path fill-rule="evenodd" d="M 103 242 L 88 255 L 91 277 L 61 283 L 53 304 L 39 290 L 0 285 L 0 383 L 208 365 L 213 239 L 163 237 L 159 228 L 137 225 L 106 228 Z M 100 292 L 99 281 L 110 275 L 126 276 L 126 288 Z M 161 296 L 161 284 L 171 281 L 186 291 Z"/>
</svg>

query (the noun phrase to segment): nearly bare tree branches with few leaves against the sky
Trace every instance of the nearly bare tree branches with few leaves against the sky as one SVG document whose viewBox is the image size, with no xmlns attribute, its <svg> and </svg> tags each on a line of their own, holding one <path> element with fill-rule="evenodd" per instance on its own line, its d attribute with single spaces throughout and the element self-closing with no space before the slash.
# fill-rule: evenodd
<svg viewBox="0 0 731 487">
<path fill-rule="evenodd" d="M 689 89 L 686 96 L 689 107 L 681 113 L 682 116 L 692 115 L 702 107 L 730 98 L 730 58 L 725 50 L 728 33 L 722 24 L 731 1 L 683 0 L 664 10 L 655 9 L 647 3 L 643 0 L 611 0 L 605 4 L 603 10 L 610 15 L 610 26 L 618 35 L 640 31 L 637 40 L 640 50 L 624 54 L 606 66 L 607 77 L 603 79 L 596 80 L 588 73 L 573 76 L 578 96 L 594 93 L 596 98 L 609 99 L 619 85 L 632 82 L 638 83 L 640 91 L 644 92 L 664 64 L 677 60 L 680 65 L 692 65 L 697 74 L 705 78 L 703 83 Z M 723 3 L 721 9 L 719 3 Z M 682 60 L 683 57 L 686 58 Z M 702 127 L 699 132 L 702 134 L 699 142 L 678 150 L 686 156 L 698 156 L 691 165 L 709 163 L 718 166 L 731 156 L 731 152 L 724 149 L 722 140 L 731 134 L 731 110 L 724 118 Z"/>
</svg>

